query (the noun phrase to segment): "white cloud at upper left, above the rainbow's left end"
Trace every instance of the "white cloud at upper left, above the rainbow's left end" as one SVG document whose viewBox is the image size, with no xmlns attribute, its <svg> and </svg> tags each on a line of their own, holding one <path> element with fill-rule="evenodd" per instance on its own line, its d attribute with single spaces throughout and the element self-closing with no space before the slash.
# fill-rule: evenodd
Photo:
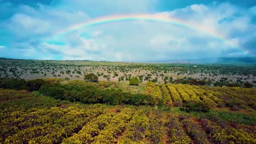
<svg viewBox="0 0 256 144">
<path fill-rule="evenodd" d="M 20 5 L 17 13 L 0 24 L 18 39 L 49 37 L 75 23 L 89 20 L 83 11 L 51 9 L 39 4 L 38 9 Z"/>
</svg>

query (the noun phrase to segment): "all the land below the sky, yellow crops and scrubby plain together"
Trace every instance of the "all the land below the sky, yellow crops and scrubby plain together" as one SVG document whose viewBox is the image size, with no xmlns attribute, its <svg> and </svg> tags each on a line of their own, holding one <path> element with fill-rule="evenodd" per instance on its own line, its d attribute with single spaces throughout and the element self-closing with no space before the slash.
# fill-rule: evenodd
<svg viewBox="0 0 256 144">
<path fill-rule="evenodd" d="M 252 65 L 0 62 L 0 143 L 256 143 L 256 89 L 244 85 L 254 81 Z M 178 78 L 201 71 L 225 77 Z M 84 81 L 86 73 L 99 81 Z M 236 86 L 231 77 L 248 79 Z"/>
</svg>

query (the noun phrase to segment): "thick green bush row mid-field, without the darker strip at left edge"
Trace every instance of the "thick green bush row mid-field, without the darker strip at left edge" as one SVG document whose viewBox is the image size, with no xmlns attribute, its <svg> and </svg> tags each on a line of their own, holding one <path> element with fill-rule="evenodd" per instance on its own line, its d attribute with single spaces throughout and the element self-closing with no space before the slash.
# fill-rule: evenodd
<svg viewBox="0 0 256 144">
<path fill-rule="evenodd" d="M 80 101 L 85 104 L 106 103 L 111 105 L 155 105 L 150 95 L 131 94 L 123 92 L 121 89 L 107 88 L 100 89 L 96 86 L 69 86 L 55 85 L 42 86 L 39 92 L 49 95 L 55 99 Z"/>
</svg>

